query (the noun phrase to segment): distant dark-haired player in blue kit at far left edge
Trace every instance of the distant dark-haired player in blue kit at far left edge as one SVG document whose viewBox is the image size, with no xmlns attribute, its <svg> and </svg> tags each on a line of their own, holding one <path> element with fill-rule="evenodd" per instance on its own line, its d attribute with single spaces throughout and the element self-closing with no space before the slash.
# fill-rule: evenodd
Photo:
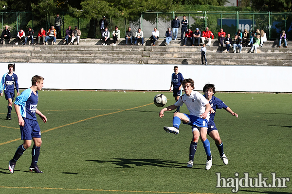
<svg viewBox="0 0 292 194">
<path fill-rule="evenodd" d="M 12 102 L 15 97 L 15 89 L 17 91 L 17 96 L 19 96 L 19 89 L 18 89 L 18 78 L 15 73 L 13 73 L 14 65 L 8 64 L 8 73 L 5 73 L 2 77 L 2 80 L 0 82 L 0 96 L 3 96 L 2 90 L 4 89 L 4 95 L 5 99 L 8 100 L 7 105 L 7 116 L 6 119 L 11 120 L 11 111 L 12 111 Z"/>
</svg>

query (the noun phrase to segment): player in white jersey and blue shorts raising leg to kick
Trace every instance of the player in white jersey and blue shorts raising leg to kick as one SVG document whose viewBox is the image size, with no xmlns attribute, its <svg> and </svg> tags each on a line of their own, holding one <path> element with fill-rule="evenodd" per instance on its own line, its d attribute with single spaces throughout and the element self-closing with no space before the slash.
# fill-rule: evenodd
<svg viewBox="0 0 292 194">
<path fill-rule="evenodd" d="M 209 112 L 211 105 L 203 95 L 197 91 L 194 91 L 194 84 L 195 83 L 192 79 L 183 80 L 183 89 L 185 94 L 181 96 L 175 104 L 162 109 L 159 116 L 162 118 L 165 111 L 174 110 L 177 107 L 182 106 L 183 103 L 186 105 L 190 114 L 174 113 L 172 121 L 173 127 L 164 127 L 164 130 L 166 132 L 178 134 L 180 132 L 179 127 L 181 121 L 183 121 L 183 124 L 192 126 L 193 138 L 190 144 L 189 162 L 187 163 L 187 167 L 193 167 L 194 155 L 196 153 L 200 137 L 207 155 L 206 169 L 209 170 L 212 166 L 212 156 L 210 143 L 207 139 L 207 124 L 210 117 Z"/>
</svg>

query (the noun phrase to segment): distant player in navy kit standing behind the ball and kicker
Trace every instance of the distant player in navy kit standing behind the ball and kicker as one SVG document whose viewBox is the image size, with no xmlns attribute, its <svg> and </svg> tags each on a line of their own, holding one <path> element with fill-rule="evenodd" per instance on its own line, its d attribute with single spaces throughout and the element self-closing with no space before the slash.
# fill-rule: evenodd
<svg viewBox="0 0 292 194">
<path fill-rule="evenodd" d="M 179 72 L 179 67 L 174 66 L 173 67 L 174 73 L 171 75 L 171 83 L 170 83 L 170 88 L 169 91 L 171 92 L 171 86 L 173 85 L 173 90 L 172 94 L 173 97 L 175 98 L 175 101 L 177 102 L 182 96 L 182 82 L 183 82 L 183 74 Z M 180 107 L 177 107 L 177 110 L 175 111 L 177 113 L 180 112 Z"/>
</svg>

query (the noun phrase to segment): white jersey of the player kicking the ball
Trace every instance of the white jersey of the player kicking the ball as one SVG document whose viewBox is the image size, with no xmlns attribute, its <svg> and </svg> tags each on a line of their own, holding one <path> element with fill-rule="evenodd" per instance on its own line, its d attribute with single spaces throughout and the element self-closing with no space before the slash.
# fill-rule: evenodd
<svg viewBox="0 0 292 194">
<path fill-rule="evenodd" d="M 183 103 L 186 105 L 187 109 L 190 112 L 190 115 L 200 117 L 202 113 L 206 111 L 206 104 L 208 100 L 197 91 L 192 91 L 190 96 L 184 94 L 179 98 L 179 100 L 174 104 L 175 106 L 182 106 Z M 208 113 L 206 119 L 209 121 L 210 113 Z"/>
</svg>

